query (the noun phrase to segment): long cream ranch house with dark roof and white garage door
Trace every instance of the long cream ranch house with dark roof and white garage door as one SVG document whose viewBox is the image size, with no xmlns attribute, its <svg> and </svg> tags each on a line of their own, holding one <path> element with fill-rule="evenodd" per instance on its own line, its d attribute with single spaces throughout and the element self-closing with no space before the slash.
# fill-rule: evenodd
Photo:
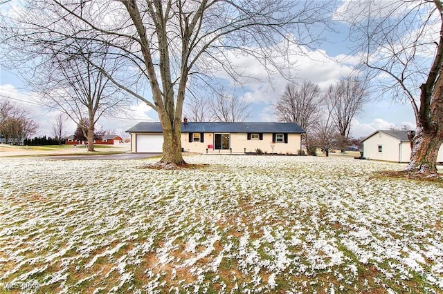
<svg viewBox="0 0 443 294">
<path fill-rule="evenodd" d="M 163 152 L 163 133 L 159 122 L 141 122 L 129 128 L 133 153 Z M 301 135 L 294 123 L 276 122 L 188 122 L 181 124 L 181 147 L 195 153 L 297 154 Z"/>
</svg>

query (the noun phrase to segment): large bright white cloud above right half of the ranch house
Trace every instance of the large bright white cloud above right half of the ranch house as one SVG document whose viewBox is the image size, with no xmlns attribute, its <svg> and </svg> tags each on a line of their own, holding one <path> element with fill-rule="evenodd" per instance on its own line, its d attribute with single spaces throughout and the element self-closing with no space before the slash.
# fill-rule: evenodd
<svg viewBox="0 0 443 294">
<path fill-rule="evenodd" d="M 269 50 L 277 52 L 280 46 L 282 43 Z M 275 65 L 283 68 L 282 72 L 266 69 L 254 57 L 240 54 L 237 50 L 226 53 L 230 63 L 241 69 L 242 77 L 238 77 L 238 81 L 245 89 L 245 101 L 271 104 L 282 95 L 288 82 L 302 84 L 303 81 L 309 80 L 325 89 L 351 75 L 354 65 L 360 60 L 359 57 L 348 55 L 329 57 L 325 50 L 308 50 L 295 44 L 289 45 L 289 53 L 287 59 L 281 56 L 273 59 Z M 278 53 L 274 56 L 278 56 Z M 236 84 L 236 81 L 221 69 L 213 73 L 216 77 L 228 81 L 231 86 Z"/>
</svg>

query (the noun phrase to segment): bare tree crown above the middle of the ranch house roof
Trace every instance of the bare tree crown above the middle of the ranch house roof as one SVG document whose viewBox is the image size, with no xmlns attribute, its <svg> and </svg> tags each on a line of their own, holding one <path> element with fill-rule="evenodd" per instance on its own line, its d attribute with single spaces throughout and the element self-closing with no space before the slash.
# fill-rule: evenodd
<svg viewBox="0 0 443 294">
<path fill-rule="evenodd" d="M 235 95 L 217 92 L 209 107 L 215 121 L 241 122 L 249 117 L 251 104 Z"/>
</svg>

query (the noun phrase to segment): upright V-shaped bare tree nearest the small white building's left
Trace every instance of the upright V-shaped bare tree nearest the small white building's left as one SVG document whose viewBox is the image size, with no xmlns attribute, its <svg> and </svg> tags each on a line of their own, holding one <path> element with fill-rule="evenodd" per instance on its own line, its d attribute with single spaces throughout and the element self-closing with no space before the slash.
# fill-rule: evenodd
<svg viewBox="0 0 443 294">
<path fill-rule="evenodd" d="M 348 139 L 352 119 L 359 115 L 368 101 L 366 85 L 358 79 L 343 79 L 336 85 L 330 86 L 328 95 L 331 95 L 331 98 L 334 99 L 332 115 L 338 128 L 338 133 L 344 139 Z"/>
</svg>

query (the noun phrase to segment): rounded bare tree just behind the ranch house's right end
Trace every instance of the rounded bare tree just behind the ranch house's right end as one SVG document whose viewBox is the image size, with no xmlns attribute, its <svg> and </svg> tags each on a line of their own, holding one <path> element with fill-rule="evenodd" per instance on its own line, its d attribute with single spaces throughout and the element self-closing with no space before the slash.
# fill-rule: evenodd
<svg viewBox="0 0 443 294">
<path fill-rule="evenodd" d="M 322 112 L 320 87 L 311 81 L 302 85 L 287 84 L 282 96 L 274 104 L 279 121 L 294 122 L 309 134 L 316 128 Z M 309 148 L 309 136 L 305 136 L 305 146 Z"/>
</svg>

